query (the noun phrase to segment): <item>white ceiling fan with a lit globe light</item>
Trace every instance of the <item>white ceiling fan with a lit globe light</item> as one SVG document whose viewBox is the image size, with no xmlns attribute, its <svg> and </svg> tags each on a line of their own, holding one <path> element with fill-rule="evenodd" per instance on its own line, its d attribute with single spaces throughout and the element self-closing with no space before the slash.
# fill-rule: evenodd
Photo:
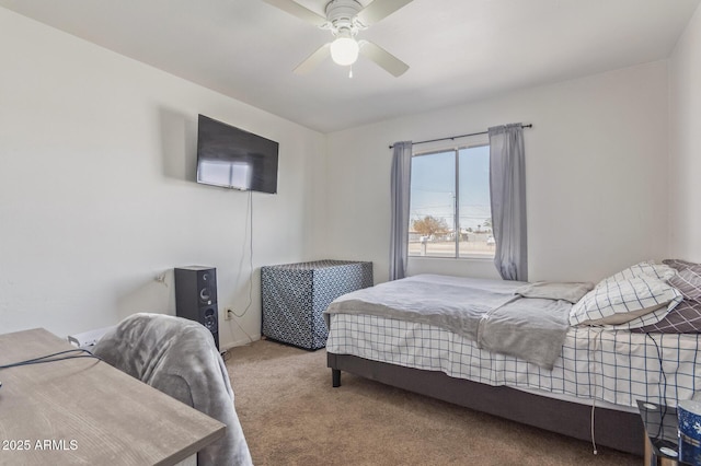
<svg viewBox="0 0 701 466">
<path fill-rule="evenodd" d="M 412 0 L 374 0 L 367 7 L 363 7 L 356 0 L 331 0 L 325 8 L 326 18 L 294 0 L 263 1 L 322 30 L 329 30 L 334 36 L 332 42 L 322 45 L 299 63 L 294 70 L 295 73 L 309 73 L 329 57 L 337 65 L 350 66 L 358 59 L 358 55 L 370 59 L 394 77 L 400 77 L 409 70 L 409 65 L 371 42 L 356 39 L 356 35 Z M 353 70 L 349 75 L 353 77 Z"/>
</svg>

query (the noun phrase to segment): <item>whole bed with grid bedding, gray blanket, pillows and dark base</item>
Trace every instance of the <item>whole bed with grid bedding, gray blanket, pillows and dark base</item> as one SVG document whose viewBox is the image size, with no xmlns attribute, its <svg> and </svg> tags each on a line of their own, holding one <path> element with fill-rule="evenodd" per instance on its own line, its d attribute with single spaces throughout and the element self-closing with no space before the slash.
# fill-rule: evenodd
<svg viewBox="0 0 701 466">
<path fill-rule="evenodd" d="M 332 384 L 348 372 L 642 456 L 636 400 L 701 391 L 701 266 L 665 263 L 596 286 L 421 275 L 346 294 L 324 313 Z"/>
</svg>

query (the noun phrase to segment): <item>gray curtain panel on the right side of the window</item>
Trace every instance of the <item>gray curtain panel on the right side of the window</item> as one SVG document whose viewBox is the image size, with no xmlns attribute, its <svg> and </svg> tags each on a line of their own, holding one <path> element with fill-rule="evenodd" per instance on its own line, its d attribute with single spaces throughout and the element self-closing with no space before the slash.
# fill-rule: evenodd
<svg viewBox="0 0 701 466">
<path fill-rule="evenodd" d="M 528 281 L 524 129 L 496 126 L 489 135 L 494 265 L 504 280 Z"/>
</svg>

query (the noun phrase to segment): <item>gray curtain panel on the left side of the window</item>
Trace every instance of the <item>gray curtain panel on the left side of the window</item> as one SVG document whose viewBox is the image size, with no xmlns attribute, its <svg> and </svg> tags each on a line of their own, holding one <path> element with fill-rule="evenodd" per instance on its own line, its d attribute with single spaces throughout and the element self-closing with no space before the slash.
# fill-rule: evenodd
<svg viewBox="0 0 701 466">
<path fill-rule="evenodd" d="M 406 258 L 409 255 L 409 196 L 412 175 L 412 142 L 394 142 L 393 145 L 390 280 L 397 280 L 406 276 Z"/>
</svg>

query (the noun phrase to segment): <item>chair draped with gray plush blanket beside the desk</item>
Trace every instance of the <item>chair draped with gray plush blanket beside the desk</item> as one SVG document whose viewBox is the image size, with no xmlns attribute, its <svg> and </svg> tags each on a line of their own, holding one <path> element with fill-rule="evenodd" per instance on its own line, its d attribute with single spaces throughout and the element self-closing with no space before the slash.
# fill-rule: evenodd
<svg viewBox="0 0 701 466">
<path fill-rule="evenodd" d="M 108 364 L 227 424 L 197 453 L 198 466 L 251 465 L 227 368 L 211 333 L 162 314 L 134 314 L 105 334 L 93 353 Z"/>
</svg>

